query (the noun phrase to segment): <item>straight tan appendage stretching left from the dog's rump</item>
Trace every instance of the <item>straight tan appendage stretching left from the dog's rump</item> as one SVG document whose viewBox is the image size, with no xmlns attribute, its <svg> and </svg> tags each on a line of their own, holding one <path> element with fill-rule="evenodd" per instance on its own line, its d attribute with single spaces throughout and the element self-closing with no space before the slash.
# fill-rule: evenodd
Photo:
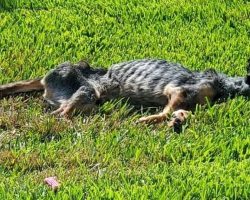
<svg viewBox="0 0 250 200">
<path fill-rule="evenodd" d="M 33 80 L 18 81 L 0 85 L 0 98 L 16 93 L 44 90 L 41 80 L 42 78 L 36 78 Z"/>
</svg>

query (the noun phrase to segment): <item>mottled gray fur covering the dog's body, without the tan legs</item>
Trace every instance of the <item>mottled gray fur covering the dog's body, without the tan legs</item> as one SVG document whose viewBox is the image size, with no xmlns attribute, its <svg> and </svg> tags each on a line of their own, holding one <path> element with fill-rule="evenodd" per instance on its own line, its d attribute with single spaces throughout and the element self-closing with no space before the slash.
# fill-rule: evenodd
<svg viewBox="0 0 250 200">
<path fill-rule="evenodd" d="M 117 97 L 137 105 L 165 106 L 168 99 L 163 91 L 169 84 L 185 91 L 188 109 L 199 103 L 195 102 L 196 96 L 206 84 L 215 91 L 213 102 L 235 95 L 250 96 L 249 83 L 243 77 L 227 77 L 214 70 L 192 72 L 180 64 L 158 59 L 123 62 L 107 71 L 93 69 L 84 62 L 66 62 L 50 71 L 43 83 L 50 94 L 44 96 L 50 103 L 59 106 L 71 99 L 80 101 L 82 108 Z"/>
</svg>

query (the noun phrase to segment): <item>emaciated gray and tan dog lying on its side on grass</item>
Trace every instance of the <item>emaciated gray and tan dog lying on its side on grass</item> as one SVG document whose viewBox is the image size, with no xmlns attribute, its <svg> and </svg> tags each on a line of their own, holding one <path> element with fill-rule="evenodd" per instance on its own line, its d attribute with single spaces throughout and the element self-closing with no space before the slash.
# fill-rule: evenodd
<svg viewBox="0 0 250 200">
<path fill-rule="evenodd" d="M 44 90 L 43 97 L 57 107 L 53 113 L 65 117 L 75 110 L 88 112 L 114 98 L 162 106 L 162 112 L 139 121 L 157 123 L 170 117 L 169 127 L 177 130 L 197 104 L 236 95 L 249 97 L 250 62 L 246 77 L 228 77 L 212 69 L 192 72 L 180 64 L 157 59 L 123 62 L 108 70 L 94 69 L 87 62 L 65 62 L 43 78 L 0 86 L 0 97 L 35 90 Z"/>
</svg>

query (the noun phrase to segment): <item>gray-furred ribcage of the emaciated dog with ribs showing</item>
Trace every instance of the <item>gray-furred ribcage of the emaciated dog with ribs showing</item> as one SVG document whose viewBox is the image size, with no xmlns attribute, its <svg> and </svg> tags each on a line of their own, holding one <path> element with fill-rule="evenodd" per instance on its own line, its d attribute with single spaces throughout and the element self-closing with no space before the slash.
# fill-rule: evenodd
<svg viewBox="0 0 250 200">
<path fill-rule="evenodd" d="M 107 75 L 119 83 L 121 97 L 144 105 L 165 105 L 164 88 L 192 78 L 192 72 L 180 64 L 152 59 L 115 64 Z"/>
</svg>

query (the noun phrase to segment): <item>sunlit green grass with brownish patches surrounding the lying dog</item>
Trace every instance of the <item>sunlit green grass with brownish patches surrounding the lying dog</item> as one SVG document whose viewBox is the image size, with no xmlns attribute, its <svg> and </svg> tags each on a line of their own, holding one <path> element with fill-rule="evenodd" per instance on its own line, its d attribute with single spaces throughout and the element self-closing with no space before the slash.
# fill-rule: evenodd
<svg viewBox="0 0 250 200">
<path fill-rule="evenodd" d="M 248 0 L 0 0 L 0 83 L 146 57 L 244 76 L 249 30 Z M 249 108 L 197 107 L 178 135 L 119 101 L 65 121 L 38 95 L 3 99 L 0 199 L 249 199 Z"/>
</svg>

